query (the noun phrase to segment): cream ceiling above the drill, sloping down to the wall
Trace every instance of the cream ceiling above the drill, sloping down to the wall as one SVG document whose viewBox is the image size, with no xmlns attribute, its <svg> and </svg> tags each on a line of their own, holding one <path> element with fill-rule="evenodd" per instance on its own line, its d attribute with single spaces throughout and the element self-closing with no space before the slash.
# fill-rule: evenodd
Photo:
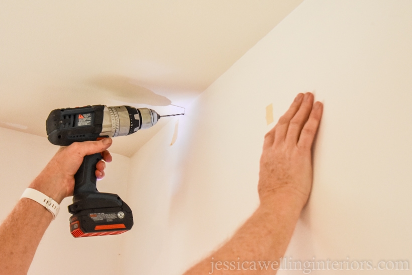
<svg viewBox="0 0 412 275">
<path fill-rule="evenodd" d="M 85 105 L 180 112 L 157 106 L 190 104 L 302 1 L 3 0 L 0 127 L 46 137 L 50 111 Z M 111 151 L 131 156 L 167 121 Z"/>
</svg>

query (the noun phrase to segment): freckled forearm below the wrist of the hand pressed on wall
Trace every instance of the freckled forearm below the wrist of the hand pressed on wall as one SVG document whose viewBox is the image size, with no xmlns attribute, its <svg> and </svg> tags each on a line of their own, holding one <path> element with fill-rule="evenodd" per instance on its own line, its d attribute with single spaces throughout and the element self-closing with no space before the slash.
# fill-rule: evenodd
<svg viewBox="0 0 412 275">
<path fill-rule="evenodd" d="M 261 269 L 258 261 L 273 262 L 283 257 L 301 209 L 301 202 L 293 196 L 275 194 L 270 203 L 259 206 L 224 246 L 186 271 L 185 275 L 211 272 L 275 274 L 276 270 L 271 267 Z M 255 262 L 256 270 L 252 262 Z"/>
</svg>

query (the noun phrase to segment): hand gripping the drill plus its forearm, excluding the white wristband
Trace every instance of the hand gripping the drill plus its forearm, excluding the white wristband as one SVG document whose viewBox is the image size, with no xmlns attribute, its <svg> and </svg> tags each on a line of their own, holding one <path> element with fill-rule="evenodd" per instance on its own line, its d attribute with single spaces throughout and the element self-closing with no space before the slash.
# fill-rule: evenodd
<svg viewBox="0 0 412 275">
<path fill-rule="evenodd" d="M 101 152 L 103 159 L 110 162 L 112 156 L 107 149 L 111 144 L 112 139 L 105 138 L 99 141 L 75 142 L 70 146 L 61 147 L 29 188 L 60 204 L 65 197 L 73 194 L 74 175 L 83 157 Z M 104 161 L 97 162 L 96 178 L 105 176 L 105 166 Z M 19 200 L 0 225 L 0 274 L 27 273 L 37 246 L 52 218 L 53 215 L 39 203 L 28 198 Z"/>
</svg>

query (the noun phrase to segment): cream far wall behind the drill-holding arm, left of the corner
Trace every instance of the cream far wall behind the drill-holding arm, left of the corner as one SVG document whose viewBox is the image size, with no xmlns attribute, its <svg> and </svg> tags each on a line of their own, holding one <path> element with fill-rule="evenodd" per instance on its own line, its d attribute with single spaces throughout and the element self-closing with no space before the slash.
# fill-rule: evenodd
<svg viewBox="0 0 412 275">
<path fill-rule="evenodd" d="M 57 148 L 46 138 L 0 128 L 2 221 Z M 97 182 L 98 189 L 126 197 L 129 158 L 113 154 L 113 162 L 107 164 L 105 171 L 106 177 Z M 29 274 L 119 274 L 122 236 L 73 238 L 69 231 L 69 204 L 71 198 L 60 204 L 60 213 L 41 240 Z"/>
</svg>

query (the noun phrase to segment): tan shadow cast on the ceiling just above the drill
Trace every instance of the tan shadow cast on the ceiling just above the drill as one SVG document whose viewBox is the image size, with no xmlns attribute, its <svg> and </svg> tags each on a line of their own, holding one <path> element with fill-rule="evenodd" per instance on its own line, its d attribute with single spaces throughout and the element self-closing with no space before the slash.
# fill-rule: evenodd
<svg viewBox="0 0 412 275">
<path fill-rule="evenodd" d="M 105 89 L 114 100 L 151 106 L 168 106 L 172 102 L 152 90 L 137 84 L 137 80 L 121 75 L 102 75 L 90 78 L 88 84 Z"/>
</svg>

